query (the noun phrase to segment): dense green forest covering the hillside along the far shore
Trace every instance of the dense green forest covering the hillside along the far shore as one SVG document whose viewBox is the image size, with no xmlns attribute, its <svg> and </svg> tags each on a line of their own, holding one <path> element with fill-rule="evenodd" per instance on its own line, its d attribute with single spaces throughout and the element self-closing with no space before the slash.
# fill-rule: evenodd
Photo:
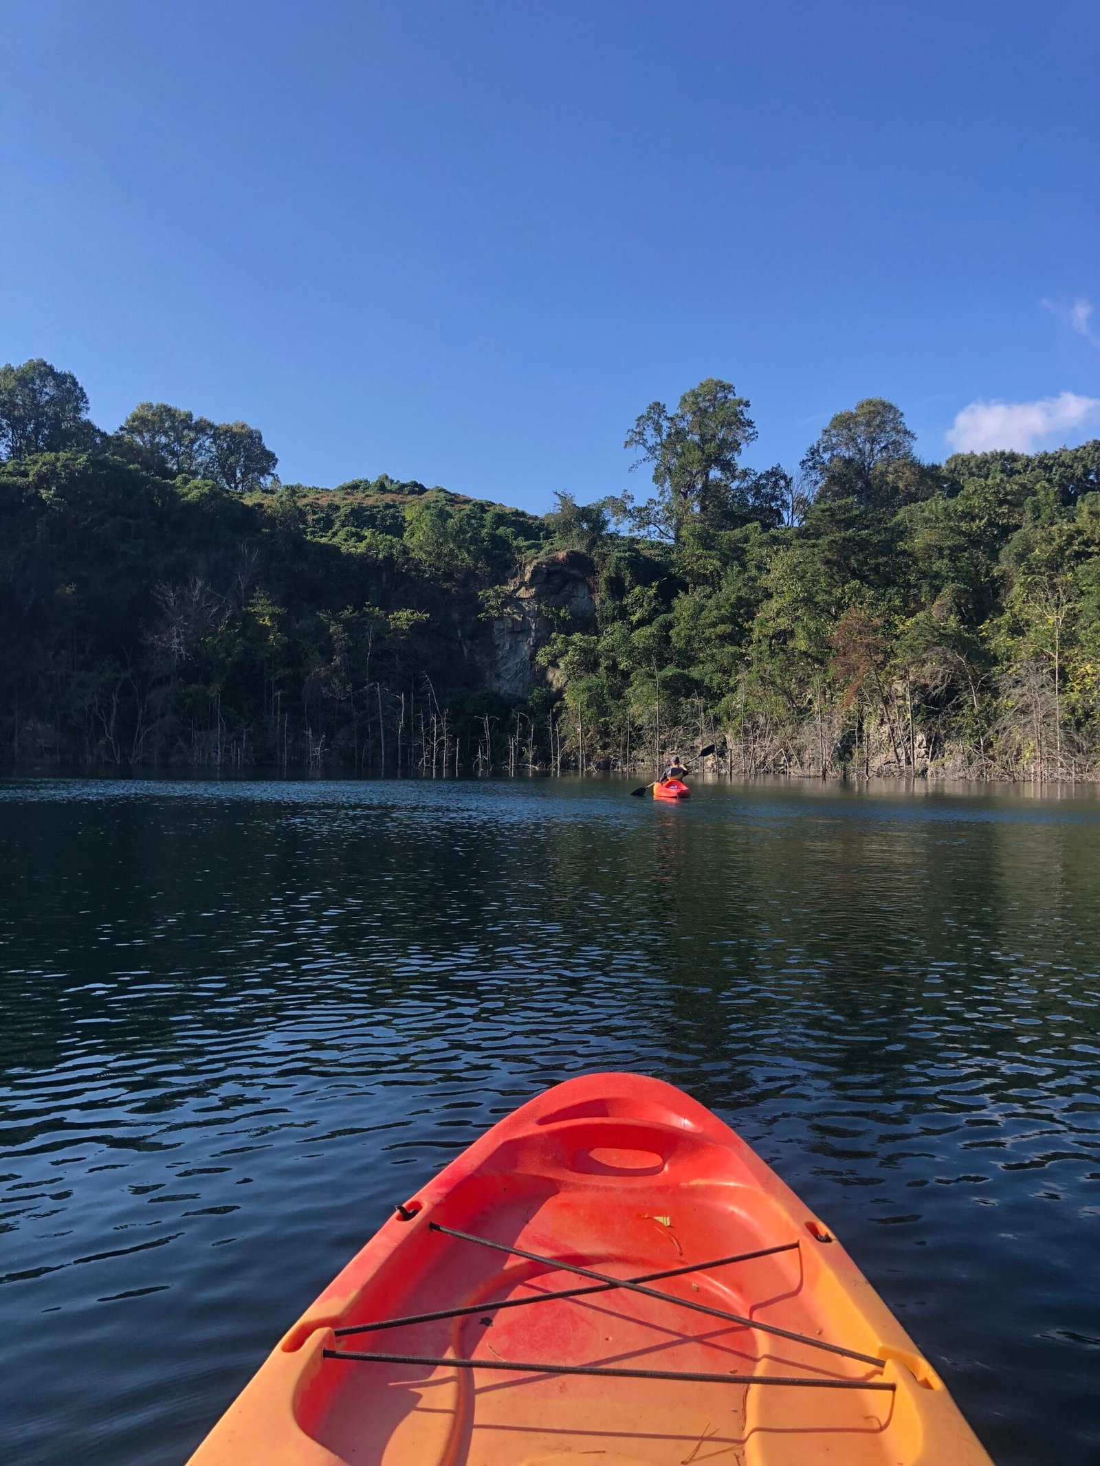
<svg viewBox="0 0 1100 1466">
<path fill-rule="evenodd" d="M 4 762 L 1096 778 L 1100 441 L 927 463 L 873 397 L 749 469 L 714 378 L 616 427 L 644 488 L 535 516 L 4 366 Z"/>
</svg>

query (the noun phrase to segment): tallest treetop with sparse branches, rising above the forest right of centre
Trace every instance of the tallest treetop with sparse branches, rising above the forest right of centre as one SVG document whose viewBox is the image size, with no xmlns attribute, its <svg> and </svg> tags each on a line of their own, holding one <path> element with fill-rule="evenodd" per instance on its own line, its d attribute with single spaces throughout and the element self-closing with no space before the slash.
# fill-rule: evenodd
<svg viewBox="0 0 1100 1466">
<path fill-rule="evenodd" d="M 757 437 L 748 406 L 730 383 L 707 377 L 683 393 L 676 412 L 651 402 L 635 419 L 623 447 L 638 449 L 634 468 L 653 465 L 657 487 L 635 512 L 642 531 L 679 544 L 689 516 L 720 513 L 744 497 L 738 490 L 748 475 L 738 459 Z"/>
</svg>

